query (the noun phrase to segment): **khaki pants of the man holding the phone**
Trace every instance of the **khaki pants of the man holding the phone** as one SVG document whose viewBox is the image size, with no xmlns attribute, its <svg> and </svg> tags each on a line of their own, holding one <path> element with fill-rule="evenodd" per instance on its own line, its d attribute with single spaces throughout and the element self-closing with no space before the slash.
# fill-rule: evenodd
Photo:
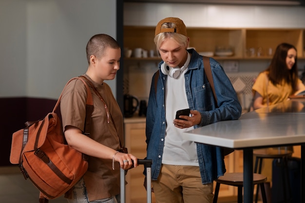
<svg viewBox="0 0 305 203">
<path fill-rule="evenodd" d="M 156 203 L 212 203 L 213 183 L 203 185 L 198 166 L 162 165 L 152 181 Z"/>
</svg>

